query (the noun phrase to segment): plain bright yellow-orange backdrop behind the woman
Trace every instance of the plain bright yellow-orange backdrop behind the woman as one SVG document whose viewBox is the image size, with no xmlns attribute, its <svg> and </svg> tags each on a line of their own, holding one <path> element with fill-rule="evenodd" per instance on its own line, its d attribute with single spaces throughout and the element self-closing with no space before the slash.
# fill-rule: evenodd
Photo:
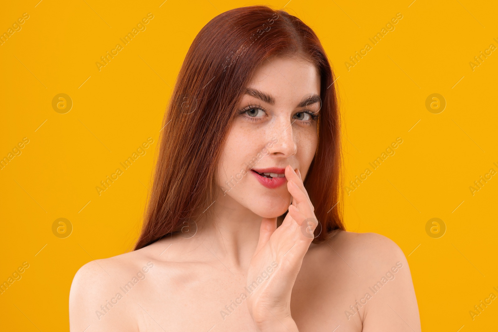
<svg viewBox="0 0 498 332">
<path fill-rule="evenodd" d="M 0 295 L 1 330 L 68 331 L 78 268 L 136 239 L 163 112 L 193 38 L 220 12 L 263 3 L 162 1 L 1 4 L 0 32 L 24 12 L 29 19 L 0 46 L 0 157 L 23 137 L 29 144 L 0 170 L 0 281 L 30 264 Z M 423 331 L 496 329 L 498 300 L 474 321 L 469 311 L 498 295 L 498 176 L 474 196 L 469 187 L 498 171 L 498 51 L 474 71 L 469 62 L 498 46 L 497 2 L 286 2 L 265 4 L 285 5 L 309 24 L 339 77 L 346 182 L 403 139 L 346 194 L 348 230 L 383 234 L 404 251 Z M 100 57 L 149 12 L 146 30 L 99 71 Z M 348 71 L 349 57 L 372 46 L 368 38 L 398 12 L 395 30 Z M 59 93 L 73 101 L 66 114 L 52 109 Z M 425 108 L 432 93 L 447 102 L 439 114 Z M 146 154 L 99 196 L 95 187 L 147 137 L 154 143 Z M 71 221 L 69 237 L 52 233 L 58 218 Z M 441 238 L 426 233 L 431 218 L 446 224 Z"/>
</svg>

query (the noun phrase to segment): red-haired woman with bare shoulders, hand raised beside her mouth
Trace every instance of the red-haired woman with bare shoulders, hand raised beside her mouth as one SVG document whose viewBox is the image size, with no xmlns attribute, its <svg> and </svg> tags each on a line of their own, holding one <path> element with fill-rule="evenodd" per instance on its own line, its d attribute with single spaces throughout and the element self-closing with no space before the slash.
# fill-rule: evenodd
<svg viewBox="0 0 498 332">
<path fill-rule="evenodd" d="M 420 331 L 403 252 L 345 231 L 340 128 L 311 28 L 266 6 L 213 18 L 181 67 L 135 250 L 77 272 L 71 331 Z"/>
</svg>

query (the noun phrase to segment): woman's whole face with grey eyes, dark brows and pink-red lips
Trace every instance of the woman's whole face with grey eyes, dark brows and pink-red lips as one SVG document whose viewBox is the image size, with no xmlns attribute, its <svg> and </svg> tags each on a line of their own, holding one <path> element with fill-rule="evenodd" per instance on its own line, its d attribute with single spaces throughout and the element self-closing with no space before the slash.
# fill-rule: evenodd
<svg viewBox="0 0 498 332">
<path fill-rule="evenodd" d="M 305 178 L 318 144 L 319 95 L 319 72 L 307 61 L 273 58 L 260 66 L 236 110 L 218 168 L 225 204 L 266 218 L 287 211 L 284 169 L 290 164 Z"/>
</svg>

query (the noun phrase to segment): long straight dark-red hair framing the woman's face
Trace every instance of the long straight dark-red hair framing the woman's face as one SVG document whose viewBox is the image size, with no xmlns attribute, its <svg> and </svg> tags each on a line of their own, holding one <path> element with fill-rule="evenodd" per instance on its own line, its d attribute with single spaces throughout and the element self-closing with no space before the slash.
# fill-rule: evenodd
<svg viewBox="0 0 498 332">
<path fill-rule="evenodd" d="M 320 222 L 314 242 L 325 240 L 333 230 L 345 229 L 340 111 L 328 58 L 315 32 L 299 18 L 254 5 L 213 18 L 187 52 L 164 116 L 152 189 L 135 250 L 177 232 L 215 200 L 217 165 L 235 110 L 254 71 L 265 59 L 276 56 L 300 56 L 319 70 L 318 147 L 304 181 Z"/>
</svg>

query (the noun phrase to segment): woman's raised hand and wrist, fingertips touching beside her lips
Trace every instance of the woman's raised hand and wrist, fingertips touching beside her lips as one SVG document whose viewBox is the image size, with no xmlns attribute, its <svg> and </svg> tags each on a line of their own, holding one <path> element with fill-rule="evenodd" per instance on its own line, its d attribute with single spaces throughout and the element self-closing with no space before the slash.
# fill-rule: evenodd
<svg viewBox="0 0 498 332">
<path fill-rule="evenodd" d="M 247 305 L 259 331 L 298 331 L 290 315 L 290 295 L 318 224 L 299 170 L 296 174 L 288 165 L 285 177 L 292 195 L 289 212 L 278 228 L 276 218 L 262 219 L 249 264 Z"/>
</svg>

